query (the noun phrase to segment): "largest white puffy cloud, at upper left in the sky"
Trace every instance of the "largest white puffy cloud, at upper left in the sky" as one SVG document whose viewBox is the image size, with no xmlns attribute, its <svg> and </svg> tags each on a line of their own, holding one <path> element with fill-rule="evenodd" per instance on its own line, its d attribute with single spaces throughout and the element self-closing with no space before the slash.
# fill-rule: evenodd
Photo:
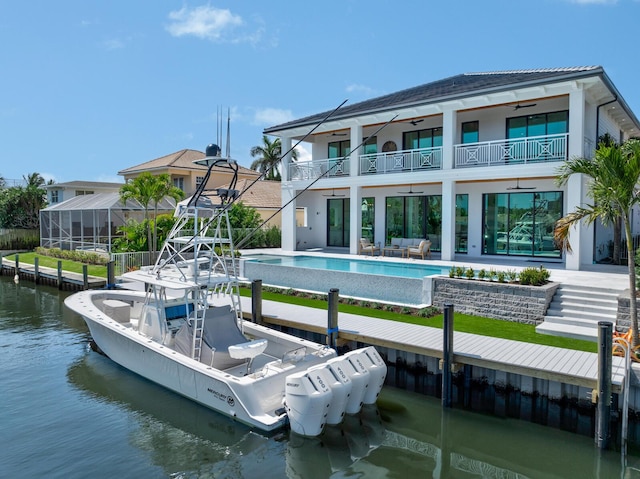
<svg viewBox="0 0 640 479">
<path fill-rule="evenodd" d="M 244 25 L 239 15 L 211 6 L 182 7 L 170 12 L 169 19 L 166 30 L 174 37 L 193 35 L 213 41 L 237 41 L 240 37 L 231 37 L 230 32 Z"/>
</svg>

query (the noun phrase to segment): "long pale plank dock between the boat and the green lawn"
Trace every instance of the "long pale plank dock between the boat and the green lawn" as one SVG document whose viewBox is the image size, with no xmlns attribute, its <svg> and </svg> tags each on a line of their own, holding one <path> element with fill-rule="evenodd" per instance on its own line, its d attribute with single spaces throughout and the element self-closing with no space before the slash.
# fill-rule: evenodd
<svg viewBox="0 0 640 479">
<path fill-rule="evenodd" d="M 242 298 L 242 308 L 250 315 L 251 298 Z M 266 324 L 327 333 L 326 310 L 263 301 L 262 316 Z M 338 337 L 341 340 L 442 358 L 442 329 L 347 313 L 339 313 L 338 325 Z M 460 332 L 454 333 L 453 346 L 453 361 L 457 365 L 471 365 L 579 387 L 597 388 L 596 353 Z M 622 390 L 624 378 L 624 359 L 614 356 L 613 392 L 619 393 Z"/>
</svg>

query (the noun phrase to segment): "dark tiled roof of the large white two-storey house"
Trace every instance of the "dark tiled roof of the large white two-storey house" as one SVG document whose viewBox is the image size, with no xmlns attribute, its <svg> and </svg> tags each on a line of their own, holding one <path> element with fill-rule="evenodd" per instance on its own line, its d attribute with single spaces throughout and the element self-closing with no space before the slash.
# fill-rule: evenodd
<svg viewBox="0 0 640 479">
<path fill-rule="evenodd" d="M 353 105 L 343 106 L 331 116 L 331 120 L 593 76 L 601 76 L 609 88 L 617 94 L 615 87 L 600 66 L 463 73 Z M 621 97 L 618 99 L 623 102 Z M 326 111 L 272 126 L 266 128 L 264 132 L 268 134 L 288 128 L 316 124 L 328 113 L 329 111 Z"/>
</svg>

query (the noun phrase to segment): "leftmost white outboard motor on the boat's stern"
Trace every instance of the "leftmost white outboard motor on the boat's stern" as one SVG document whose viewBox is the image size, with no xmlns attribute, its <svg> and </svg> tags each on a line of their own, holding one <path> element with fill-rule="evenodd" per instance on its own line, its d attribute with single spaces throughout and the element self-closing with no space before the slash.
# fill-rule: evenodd
<svg viewBox="0 0 640 479">
<path fill-rule="evenodd" d="M 318 436 L 324 429 L 332 399 L 323 377 L 313 371 L 290 374 L 284 392 L 291 430 L 301 436 Z"/>
</svg>

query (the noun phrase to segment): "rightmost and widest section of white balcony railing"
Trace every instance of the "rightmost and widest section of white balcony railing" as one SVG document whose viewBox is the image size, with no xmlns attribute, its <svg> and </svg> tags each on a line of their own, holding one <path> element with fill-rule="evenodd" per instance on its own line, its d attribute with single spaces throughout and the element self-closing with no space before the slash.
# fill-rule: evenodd
<svg viewBox="0 0 640 479">
<path fill-rule="evenodd" d="M 455 145 L 455 167 L 564 161 L 568 137 L 562 133 Z"/>
</svg>

